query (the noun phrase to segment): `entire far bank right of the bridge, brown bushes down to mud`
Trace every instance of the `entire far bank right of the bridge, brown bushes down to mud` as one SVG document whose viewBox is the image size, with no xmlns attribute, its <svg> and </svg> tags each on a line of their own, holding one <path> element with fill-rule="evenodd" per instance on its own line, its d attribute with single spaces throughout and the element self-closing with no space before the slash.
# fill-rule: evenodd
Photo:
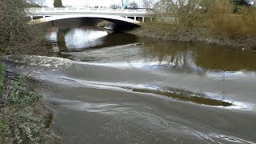
<svg viewBox="0 0 256 144">
<path fill-rule="evenodd" d="M 153 15 L 157 20 L 143 23 L 140 29 L 130 33 L 162 40 L 207 42 L 256 50 L 255 7 L 241 6 L 234 12 L 234 3 L 229 0 L 177 2 L 180 2 L 178 6 L 158 3 Z M 166 16 L 171 17 L 171 21 L 167 21 Z"/>
</svg>

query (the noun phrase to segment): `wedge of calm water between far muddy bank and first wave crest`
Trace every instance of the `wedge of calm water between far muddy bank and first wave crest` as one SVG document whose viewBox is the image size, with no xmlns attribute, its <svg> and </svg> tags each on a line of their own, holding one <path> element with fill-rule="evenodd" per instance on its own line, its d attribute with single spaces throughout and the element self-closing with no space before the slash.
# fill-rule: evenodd
<svg viewBox="0 0 256 144">
<path fill-rule="evenodd" d="M 63 52 L 62 55 L 98 66 L 132 66 L 213 78 L 255 77 L 256 54 L 247 51 L 226 50 L 224 46 L 214 45 L 150 42 L 145 39 L 140 40 L 140 43 L 83 52 Z"/>
</svg>

